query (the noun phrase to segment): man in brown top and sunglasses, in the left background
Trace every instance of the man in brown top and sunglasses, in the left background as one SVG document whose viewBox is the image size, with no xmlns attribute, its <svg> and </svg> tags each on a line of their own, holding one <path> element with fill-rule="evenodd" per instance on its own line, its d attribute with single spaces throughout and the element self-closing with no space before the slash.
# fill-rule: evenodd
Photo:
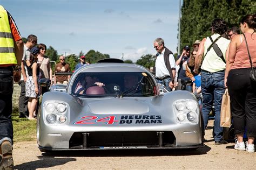
<svg viewBox="0 0 256 170">
<path fill-rule="evenodd" d="M 70 67 L 68 63 L 65 63 L 65 56 L 61 55 L 59 56 L 59 63 L 55 66 L 55 72 L 56 73 L 64 73 L 64 72 L 70 72 Z M 54 84 L 68 84 L 70 79 L 70 75 L 55 75 L 54 77 Z"/>
</svg>

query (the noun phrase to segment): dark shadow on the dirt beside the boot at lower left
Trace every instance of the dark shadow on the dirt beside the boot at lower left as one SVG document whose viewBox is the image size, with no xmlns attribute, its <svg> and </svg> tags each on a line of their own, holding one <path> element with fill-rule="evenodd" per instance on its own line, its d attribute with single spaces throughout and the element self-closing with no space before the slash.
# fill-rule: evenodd
<svg viewBox="0 0 256 170">
<path fill-rule="evenodd" d="M 39 160 L 25 162 L 21 165 L 14 166 L 14 169 L 37 169 L 37 168 L 49 168 L 57 165 L 64 165 L 70 161 L 76 161 L 75 158 L 55 158 L 55 157 L 37 157 Z"/>
</svg>

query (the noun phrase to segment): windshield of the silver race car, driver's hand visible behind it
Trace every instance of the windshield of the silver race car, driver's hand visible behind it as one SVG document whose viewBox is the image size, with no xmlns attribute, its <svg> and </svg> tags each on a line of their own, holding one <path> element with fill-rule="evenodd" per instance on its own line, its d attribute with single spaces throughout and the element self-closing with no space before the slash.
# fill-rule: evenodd
<svg viewBox="0 0 256 170">
<path fill-rule="evenodd" d="M 153 96 L 154 82 L 142 72 L 80 73 L 72 86 L 72 94 L 81 97 Z"/>
</svg>

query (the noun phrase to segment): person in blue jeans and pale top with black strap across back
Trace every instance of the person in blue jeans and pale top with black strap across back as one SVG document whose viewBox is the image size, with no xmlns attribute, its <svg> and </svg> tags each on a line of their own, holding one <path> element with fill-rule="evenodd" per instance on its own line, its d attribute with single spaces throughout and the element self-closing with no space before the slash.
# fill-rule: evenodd
<svg viewBox="0 0 256 170">
<path fill-rule="evenodd" d="M 204 38 L 196 55 L 194 73 L 198 73 L 201 65 L 201 90 L 203 94 L 203 119 L 204 129 L 208 124 L 208 118 L 214 102 L 215 121 L 214 121 L 214 141 L 215 145 L 227 144 L 223 139 L 223 128 L 220 127 L 220 108 L 222 96 L 225 92 L 224 77 L 226 69 L 226 56 L 230 40 L 221 37 L 227 31 L 227 24 L 223 19 L 214 19 L 212 22 L 212 36 Z M 215 41 L 215 42 L 214 42 Z M 217 44 L 223 54 L 222 58 L 214 51 L 212 44 Z"/>
</svg>

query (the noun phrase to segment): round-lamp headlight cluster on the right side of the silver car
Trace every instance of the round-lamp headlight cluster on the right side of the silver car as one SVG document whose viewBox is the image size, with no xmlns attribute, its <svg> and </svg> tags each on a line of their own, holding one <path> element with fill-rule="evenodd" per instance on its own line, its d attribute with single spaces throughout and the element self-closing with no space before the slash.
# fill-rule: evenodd
<svg viewBox="0 0 256 170">
<path fill-rule="evenodd" d="M 174 102 L 177 122 L 182 124 L 197 124 L 199 122 L 199 109 L 196 101 L 178 100 Z"/>
</svg>

